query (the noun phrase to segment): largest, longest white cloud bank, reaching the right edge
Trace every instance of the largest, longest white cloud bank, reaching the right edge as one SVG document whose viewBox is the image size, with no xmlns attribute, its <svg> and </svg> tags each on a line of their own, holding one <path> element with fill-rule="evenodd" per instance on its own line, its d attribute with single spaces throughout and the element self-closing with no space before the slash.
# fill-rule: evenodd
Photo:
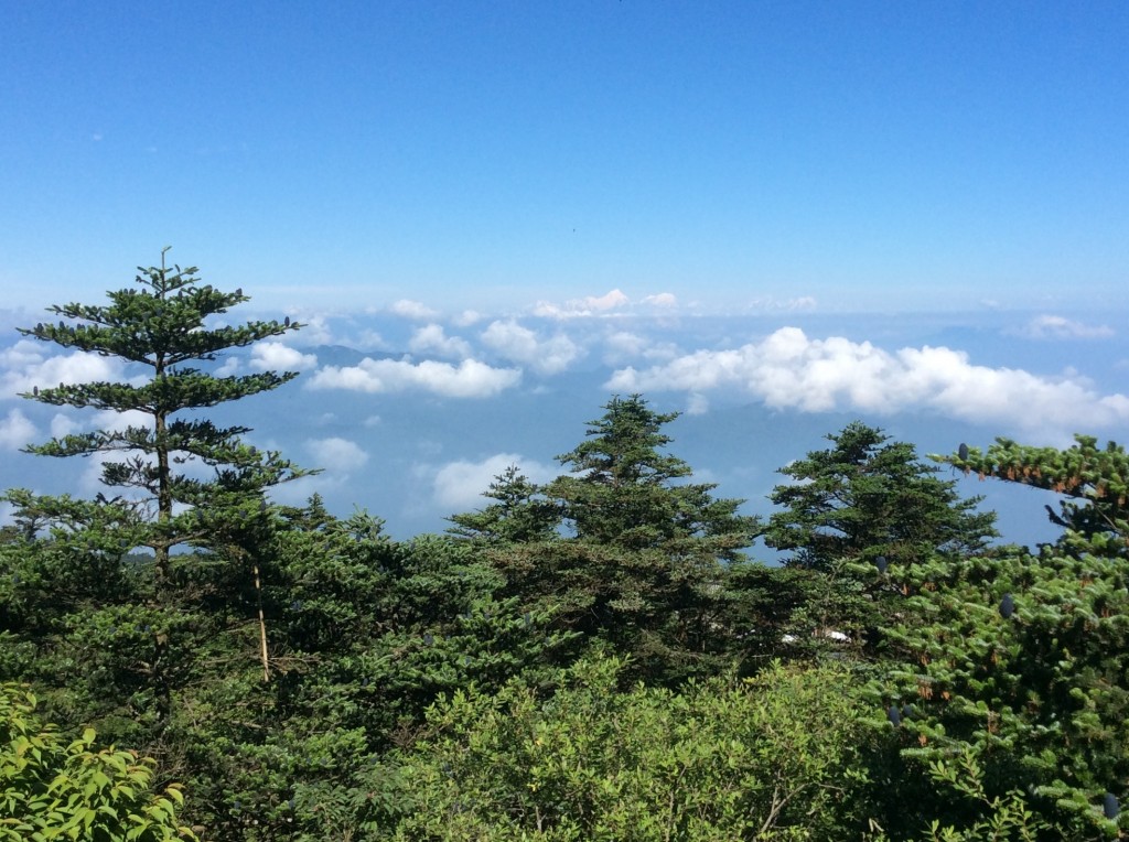
<svg viewBox="0 0 1129 842">
<path fill-rule="evenodd" d="M 1007 429 L 1053 432 L 1129 421 L 1129 397 L 1100 395 L 1084 379 L 988 368 L 947 348 L 894 353 L 841 336 L 808 339 L 784 327 L 762 342 L 697 351 L 646 370 L 623 368 L 614 392 L 741 388 L 772 409 L 893 413 L 926 409 Z"/>
</svg>

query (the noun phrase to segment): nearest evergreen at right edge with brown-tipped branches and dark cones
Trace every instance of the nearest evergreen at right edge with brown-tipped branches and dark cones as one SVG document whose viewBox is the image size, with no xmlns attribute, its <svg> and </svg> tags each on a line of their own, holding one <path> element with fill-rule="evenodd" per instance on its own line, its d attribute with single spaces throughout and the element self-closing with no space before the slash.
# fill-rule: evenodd
<svg viewBox="0 0 1129 842">
<path fill-rule="evenodd" d="M 1129 456 L 1077 441 L 1056 450 L 1000 439 L 944 459 L 1071 495 L 1052 510 L 1059 540 L 890 568 L 909 597 L 887 630 L 902 663 L 876 687 L 876 708 L 909 713 L 894 733 L 911 764 L 952 775 L 953 758 L 966 757 L 982 771 L 979 805 L 960 808 L 947 792 L 931 807 L 912 799 L 959 827 L 1021 792 L 1049 825 L 1040 839 L 1129 828 L 1111 817 L 1129 798 Z"/>
</svg>

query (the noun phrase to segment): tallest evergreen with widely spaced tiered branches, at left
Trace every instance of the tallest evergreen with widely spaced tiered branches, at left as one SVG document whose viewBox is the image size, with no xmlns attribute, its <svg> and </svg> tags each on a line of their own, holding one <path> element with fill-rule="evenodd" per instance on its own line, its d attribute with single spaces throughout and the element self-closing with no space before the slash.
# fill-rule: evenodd
<svg viewBox="0 0 1129 842">
<path fill-rule="evenodd" d="M 250 299 L 242 289 L 222 292 L 201 284 L 194 267 L 168 269 L 164 254 L 159 267 L 139 267 L 138 288 L 108 292 L 108 305 L 56 305 L 49 312 L 62 316 L 58 324 L 20 330 L 24 335 L 114 357 L 148 372 L 141 385 L 60 383 L 37 386 L 21 396 L 55 406 L 148 416 L 143 426 L 72 433 L 29 446 L 26 451 L 55 457 L 120 456 L 103 464 L 102 481 L 121 490 L 123 493 L 114 502 L 135 515 L 128 537 L 135 542 L 131 546 L 154 551 L 158 586 L 169 579 L 172 547 L 182 543 L 208 545 L 225 533 L 233 509 L 240 502 L 305 473 L 278 453 L 261 453 L 244 445 L 240 436 L 248 432 L 247 428 L 221 428 L 193 415 L 199 410 L 277 388 L 297 376 L 294 371 L 262 371 L 217 377 L 195 363 L 212 361 L 220 351 L 296 331 L 300 325 L 288 317 L 282 324 L 272 321 L 210 326 L 209 319 Z M 211 467 L 213 476 L 195 479 L 178 467 L 192 462 Z M 69 498 L 36 499 L 17 490 L 9 492 L 8 499 L 25 518 L 28 512 L 42 512 L 50 523 L 75 527 L 88 519 L 86 505 Z"/>
</svg>

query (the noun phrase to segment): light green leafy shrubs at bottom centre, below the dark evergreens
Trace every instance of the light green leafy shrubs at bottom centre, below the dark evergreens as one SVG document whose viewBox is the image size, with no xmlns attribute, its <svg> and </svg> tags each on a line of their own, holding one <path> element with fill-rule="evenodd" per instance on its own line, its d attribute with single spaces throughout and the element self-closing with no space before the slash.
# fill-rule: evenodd
<svg viewBox="0 0 1129 842">
<path fill-rule="evenodd" d="M 584 660 L 550 700 L 517 681 L 458 692 L 402 769 L 413 840 L 833 839 L 860 818 L 873 738 L 842 667 L 771 665 L 680 692 L 616 692 Z"/>
</svg>

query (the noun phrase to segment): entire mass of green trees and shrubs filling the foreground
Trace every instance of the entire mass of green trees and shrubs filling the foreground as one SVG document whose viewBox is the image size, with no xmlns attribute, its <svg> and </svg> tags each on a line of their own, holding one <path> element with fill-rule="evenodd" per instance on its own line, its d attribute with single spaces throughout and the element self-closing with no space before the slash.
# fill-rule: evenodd
<svg viewBox="0 0 1129 842">
<path fill-rule="evenodd" d="M 861 422 L 781 470 L 762 524 L 668 451 L 676 413 L 612 397 L 555 480 L 511 466 L 393 541 L 272 505 L 300 470 L 192 414 L 291 375 L 185 363 L 297 325 L 209 327 L 242 292 L 139 281 L 29 332 L 150 370 L 28 397 L 152 421 L 33 448 L 119 459 L 114 497 L 8 493 L 0 835 L 1126 836 L 1120 447 L 934 457 L 1065 498 L 1058 540 L 990 546 L 991 512 Z M 788 563 L 750 560 L 759 535 Z"/>
</svg>

